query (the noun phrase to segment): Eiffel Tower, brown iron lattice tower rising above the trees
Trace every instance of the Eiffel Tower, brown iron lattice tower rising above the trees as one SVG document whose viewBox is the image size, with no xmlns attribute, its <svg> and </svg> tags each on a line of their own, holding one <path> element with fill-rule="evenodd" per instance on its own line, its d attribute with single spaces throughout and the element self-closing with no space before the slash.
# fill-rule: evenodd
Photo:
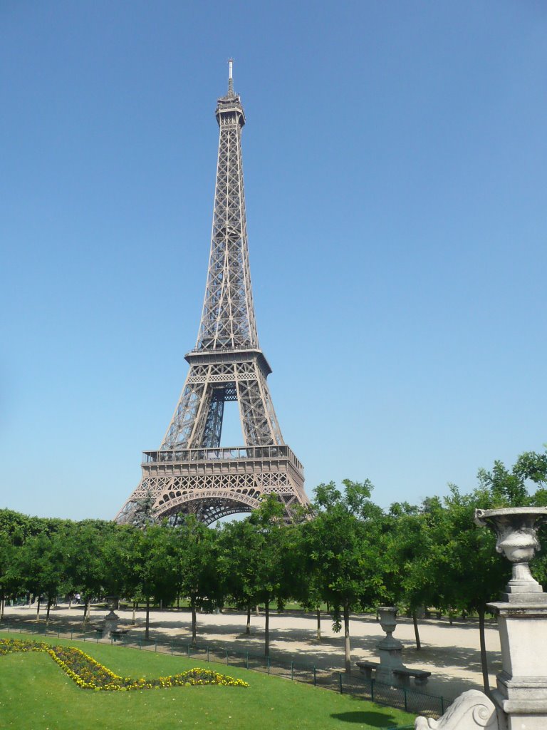
<svg viewBox="0 0 547 730">
<path fill-rule="evenodd" d="M 309 504 L 303 466 L 285 444 L 266 378 L 271 373 L 258 344 L 252 301 L 241 161 L 245 115 L 233 91 L 217 101 L 220 127 L 209 272 L 195 348 L 179 402 L 158 450 L 145 451 L 139 486 L 118 512 L 133 523 L 152 502 L 156 519 L 176 522 L 193 514 L 210 524 L 251 512 L 274 493 L 285 519 Z M 221 447 L 224 404 L 237 401 L 243 446 Z"/>
</svg>

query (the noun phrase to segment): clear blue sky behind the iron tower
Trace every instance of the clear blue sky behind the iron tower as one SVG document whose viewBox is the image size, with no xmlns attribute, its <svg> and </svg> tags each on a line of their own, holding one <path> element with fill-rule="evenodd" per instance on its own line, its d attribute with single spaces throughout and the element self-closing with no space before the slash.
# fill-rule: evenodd
<svg viewBox="0 0 547 730">
<path fill-rule="evenodd" d="M 0 507 L 112 518 L 160 444 L 230 55 L 259 337 L 307 491 L 419 502 L 542 449 L 544 2 L 2 0 L 0 26 Z"/>
</svg>

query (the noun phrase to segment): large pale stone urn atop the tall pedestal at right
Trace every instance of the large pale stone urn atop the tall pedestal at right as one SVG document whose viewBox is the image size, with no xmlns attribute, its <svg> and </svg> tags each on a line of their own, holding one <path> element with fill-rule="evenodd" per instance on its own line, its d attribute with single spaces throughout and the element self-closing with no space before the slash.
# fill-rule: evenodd
<svg viewBox="0 0 547 730">
<path fill-rule="evenodd" d="M 475 522 L 495 531 L 497 552 L 503 553 L 513 566 L 513 575 L 503 593 L 505 601 L 518 602 L 527 600 L 530 593 L 543 593 L 530 572 L 529 561 L 540 550 L 537 530 L 546 521 L 547 507 L 475 510 Z"/>
</svg>

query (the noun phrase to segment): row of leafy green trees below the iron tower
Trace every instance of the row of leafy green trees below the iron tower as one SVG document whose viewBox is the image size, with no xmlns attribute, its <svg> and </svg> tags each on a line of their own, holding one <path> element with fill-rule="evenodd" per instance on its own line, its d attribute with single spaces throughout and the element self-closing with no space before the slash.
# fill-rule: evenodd
<svg viewBox="0 0 547 730">
<path fill-rule="evenodd" d="M 478 488 L 433 497 L 418 506 L 397 502 L 382 510 L 371 499 L 370 482 L 344 481 L 315 490 L 310 514 L 284 524 L 274 497 L 241 521 L 210 529 L 195 518 L 175 527 L 155 524 L 142 510 L 139 527 L 101 520 L 44 520 L 0 510 L 0 599 L 26 593 L 45 596 L 47 614 L 57 596 L 80 593 L 172 602 L 185 596 L 196 613 L 225 604 L 247 610 L 265 607 L 268 654 L 269 606 L 295 600 L 317 611 L 327 603 L 336 630 L 344 629 L 350 667 L 350 612 L 398 604 L 446 612 L 476 612 L 484 649 L 486 603 L 511 573 L 494 551 L 494 535 L 473 523 L 476 507 L 547 505 L 547 452 L 524 453 L 511 469 L 496 462 L 481 470 Z M 532 487 L 532 490 L 530 489 Z M 310 519 L 311 517 L 311 519 Z M 540 535 L 545 544 L 545 536 Z M 532 566 L 542 581 L 545 553 Z M 319 630 L 319 622 L 318 622 Z M 416 634 L 417 637 L 417 634 Z"/>
</svg>

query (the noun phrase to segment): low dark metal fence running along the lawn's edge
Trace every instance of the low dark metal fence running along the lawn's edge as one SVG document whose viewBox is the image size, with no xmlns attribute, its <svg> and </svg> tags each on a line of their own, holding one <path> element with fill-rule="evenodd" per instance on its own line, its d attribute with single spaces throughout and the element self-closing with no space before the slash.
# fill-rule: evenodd
<svg viewBox="0 0 547 730">
<path fill-rule="evenodd" d="M 95 643 L 98 643 L 102 637 L 100 629 L 78 629 L 64 623 L 47 626 L 45 623 L 34 621 L 0 621 L 0 631 L 14 633 L 24 631 L 39 636 Z M 192 644 L 181 641 L 144 639 L 128 632 L 121 634 L 119 638 L 110 639 L 110 643 L 116 646 L 161 652 L 172 656 L 185 656 L 186 658 L 213 661 L 227 666 L 250 669 L 255 672 L 264 672 L 268 675 L 284 677 L 295 682 L 304 682 L 432 718 L 443 715 L 452 702 L 451 699 L 425 694 L 414 688 L 388 685 L 374 679 L 368 680 L 362 675 L 347 674 L 333 669 L 322 669 L 315 664 L 300 664 L 300 662 L 284 661 L 271 656 L 265 657 L 259 654 L 238 651 L 226 645 L 220 646 L 212 642 Z"/>
</svg>

